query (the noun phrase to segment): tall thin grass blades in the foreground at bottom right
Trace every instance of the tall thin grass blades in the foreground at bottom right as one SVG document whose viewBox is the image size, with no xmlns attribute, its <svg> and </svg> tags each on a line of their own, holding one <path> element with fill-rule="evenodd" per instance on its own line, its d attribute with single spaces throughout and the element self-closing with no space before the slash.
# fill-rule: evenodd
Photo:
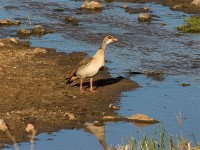
<svg viewBox="0 0 200 150">
<path fill-rule="evenodd" d="M 159 136 L 157 136 L 159 135 Z M 194 144 L 194 143 L 193 143 Z M 191 142 L 182 137 L 173 137 L 166 134 L 164 125 L 161 126 L 160 132 L 154 128 L 154 133 L 149 138 L 144 134 L 140 140 L 134 137 L 122 139 L 122 144 L 112 147 L 112 150 L 200 150 L 200 143 L 192 148 Z"/>
</svg>

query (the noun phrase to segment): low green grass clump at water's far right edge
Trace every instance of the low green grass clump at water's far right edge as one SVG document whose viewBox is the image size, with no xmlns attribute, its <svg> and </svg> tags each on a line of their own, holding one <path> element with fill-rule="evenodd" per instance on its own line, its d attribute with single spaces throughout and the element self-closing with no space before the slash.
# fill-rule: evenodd
<svg viewBox="0 0 200 150">
<path fill-rule="evenodd" d="M 185 25 L 178 26 L 177 29 L 185 33 L 200 33 L 200 16 L 185 19 Z"/>
</svg>

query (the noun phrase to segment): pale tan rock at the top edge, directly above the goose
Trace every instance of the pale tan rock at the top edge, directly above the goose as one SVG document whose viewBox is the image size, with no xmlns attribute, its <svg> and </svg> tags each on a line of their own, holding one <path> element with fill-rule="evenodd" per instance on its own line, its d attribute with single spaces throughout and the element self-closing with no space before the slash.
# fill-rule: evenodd
<svg viewBox="0 0 200 150">
<path fill-rule="evenodd" d="M 88 0 L 86 0 L 83 2 L 81 8 L 87 9 L 87 10 L 98 10 L 98 9 L 102 9 L 103 5 L 96 1 L 88 2 Z"/>
</svg>

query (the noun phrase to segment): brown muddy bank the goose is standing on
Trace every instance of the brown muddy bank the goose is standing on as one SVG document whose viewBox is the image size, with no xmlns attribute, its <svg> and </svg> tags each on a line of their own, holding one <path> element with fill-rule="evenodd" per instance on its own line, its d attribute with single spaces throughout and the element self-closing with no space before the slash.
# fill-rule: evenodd
<svg viewBox="0 0 200 150">
<path fill-rule="evenodd" d="M 105 69 L 94 78 L 99 93 L 80 93 L 79 81 L 71 86 L 65 77 L 85 56 L 29 47 L 15 39 L 0 40 L 0 118 L 17 142 L 28 140 L 29 123 L 40 133 L 101 122 L 103 116 L 116 115 L 109 105 L 118 103 L 122 91 L 138 87 L 129 79 L 112 78 Z M 89 80 L 84 86 L 88 90 Z M 68 113 L 76 119 L 70 120 Z M 0 144 L 11 143 L 2 131 L 0 137 Z"/>
</svg>

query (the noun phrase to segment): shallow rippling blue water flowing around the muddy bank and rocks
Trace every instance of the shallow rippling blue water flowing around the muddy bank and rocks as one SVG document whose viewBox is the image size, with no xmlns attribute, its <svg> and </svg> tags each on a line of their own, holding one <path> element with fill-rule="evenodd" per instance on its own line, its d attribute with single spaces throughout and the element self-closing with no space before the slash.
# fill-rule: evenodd
<svg viewBox="0 0 200 150">
<path fill-rule="evenodd" d="M 102 12 L 94 13 L 82 12 L 79 9 L 82 1 L 77 0 L 1 0 L 0 4 L 0 19 L 22 21 L 20 26 L 0 27 L 0 38 L 17 37 L 19 28 L 41 24 L 56 32 L 41 38 L 31 37 L 31 46 L 56 48 L 66 53 L 86 51 L 93 55 L 105 35 L 116 36 L 119 42 L 108 45 L 106 50 L 106 66 L 113 77 L 129 76 L 129 70 L 162 69 L 166 72 L 164 80 L 160 81 L 144 75 L 129 76 L 141 88 L 122 93 L 119 115 L 145 114 L 164 122 L 167 133 L 175 137 L 180 136 L 176 120 L 180 111 L 185 138 L 195 144 L 193 133 L 200 141 L 200 35 L 176 30 L 190 15 L 155 3 L 126 3 L 133 8 L 149 7 L 150 13 L 155 15 L 151 23 L 139 23 L 138 14 L 126 13 L 121 7 L 124 3 L 120 2 L 105 3 Z M 15 7 L 8 9 L 5 6 Z M 79 26 L 67 24 L 64 21 L 67 16 L 79 19 Z M 31 18 L 31 25 L 28 18 Z M 190 86 L 180 86 L 182 83 Z M 155 126 L 159 129 L 161 125 Z M 102 149 L 105 143 L 108 146 L 122 143 L 122 137 L 152 135 L 153 128 L 138 128 L 125 122 L 106 123 L 104 144 L 85 130 L 44 133 L 37 136 L 35 149 Z M 29 146 L 29 143 L 23 143 L 20 149 Z"/>
</svg>

